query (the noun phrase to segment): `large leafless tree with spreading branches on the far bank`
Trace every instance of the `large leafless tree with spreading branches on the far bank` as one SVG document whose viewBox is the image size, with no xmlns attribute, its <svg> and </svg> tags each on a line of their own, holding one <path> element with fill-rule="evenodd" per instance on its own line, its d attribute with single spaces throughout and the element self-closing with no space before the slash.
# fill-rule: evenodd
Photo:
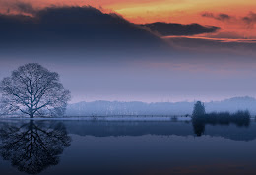
<svg viewBox="0 0 256 175">
<path fill-rule="evenodd" d="M 59 75 L 37 63 L 29 63 L 4 78 L 0 85 L 4 113 L 63 115 L 70 92 L 59 83 Z"/>
</svg>

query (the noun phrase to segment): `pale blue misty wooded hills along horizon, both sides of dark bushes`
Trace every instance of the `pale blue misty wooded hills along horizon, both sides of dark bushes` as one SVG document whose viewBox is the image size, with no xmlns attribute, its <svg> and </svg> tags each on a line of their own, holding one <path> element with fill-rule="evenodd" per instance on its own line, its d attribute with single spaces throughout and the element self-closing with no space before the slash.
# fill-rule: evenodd
<svg viewBox="0 0 256 175">
<path fill-rule="evenodd" d="M 69 104 L 67 116 L 92 115 L 186 115 L 191 114 L 194 102 L 156 102 L 144 103 L 119 101 L 94 101 Z M 253 97 L 234 97 L 223 101 L 206 102 L 206 112 L 236 112 L 249 110 L 256 114 L 256 99 Z"/>
</svg>

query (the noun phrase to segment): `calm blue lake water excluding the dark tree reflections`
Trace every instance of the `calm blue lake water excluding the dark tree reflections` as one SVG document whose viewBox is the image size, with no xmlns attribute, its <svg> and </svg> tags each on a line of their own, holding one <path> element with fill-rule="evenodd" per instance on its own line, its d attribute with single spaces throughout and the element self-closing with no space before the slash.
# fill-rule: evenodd
<svg viewBox="0 0 256 175">
<path fill-rule="evenodd" d="M 182 122 L 65 121 L 63 124 L 71 136 L 71 146 L 64 148 L 56 166 L 40 174 L 244 174 L 256 171 L 252 163 L 256 160 L 254 122 L 248 128 L 207 125 L 206 135 L 201 137 L 193 133 L 191 123 Z M 12 125 L 18 124 L 8 124 Z M 55 124 L 52 121 L 43 126 L 52 128 Z M 1 174 L 20 173 L 10 161 L 0 160 L 0 170 Z"/>
</svg>

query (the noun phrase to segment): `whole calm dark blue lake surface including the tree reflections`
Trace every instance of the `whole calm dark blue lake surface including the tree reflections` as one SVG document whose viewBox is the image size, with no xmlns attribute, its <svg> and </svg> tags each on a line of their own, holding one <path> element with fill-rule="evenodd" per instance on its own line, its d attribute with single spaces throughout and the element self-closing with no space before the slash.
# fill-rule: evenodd
<svg viewBox="0 0 256 175">
<path fill-rule="evenodd" d="M 256 123 L 0 121 L 0 174 L 256 174 Z"/>
</svg>

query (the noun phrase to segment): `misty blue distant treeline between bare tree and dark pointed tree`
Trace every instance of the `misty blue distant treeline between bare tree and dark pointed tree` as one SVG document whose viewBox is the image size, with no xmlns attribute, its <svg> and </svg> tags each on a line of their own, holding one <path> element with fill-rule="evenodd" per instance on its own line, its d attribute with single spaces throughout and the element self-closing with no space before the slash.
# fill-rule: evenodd
<svg viewBox="0 0 256 175">
<path fill-rule="evenodd" d="M 94 101 L 70 104 L 67 116 L 109 116 L 109 115 L 186 115 L 191 114 L 193 103 L 190 102 L 118 102 Z"/>
</svg>

